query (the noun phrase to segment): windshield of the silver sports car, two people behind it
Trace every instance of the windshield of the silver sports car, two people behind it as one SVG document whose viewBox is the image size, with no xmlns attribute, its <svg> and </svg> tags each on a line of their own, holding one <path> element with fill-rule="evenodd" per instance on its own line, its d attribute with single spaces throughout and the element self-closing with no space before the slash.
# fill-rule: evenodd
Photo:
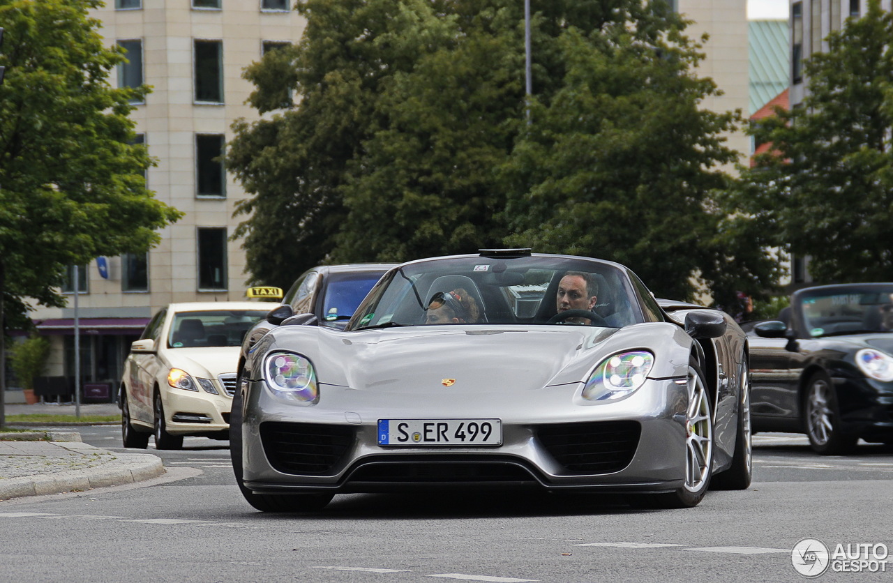
<svg viewBox="0 0 893 583">
<path fill-rule="evenodd" d="M 613 263 L 559 256 L 434 259 L 389 273 L 347 329 L 555 323 L 622 328 L 642 321 L 635 298 L 626 271 Z"/>
</svg>

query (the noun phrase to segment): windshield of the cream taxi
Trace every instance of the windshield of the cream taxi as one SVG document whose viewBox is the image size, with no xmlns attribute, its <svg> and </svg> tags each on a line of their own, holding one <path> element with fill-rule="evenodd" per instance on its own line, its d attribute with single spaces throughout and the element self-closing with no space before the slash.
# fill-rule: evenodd
<svg viewBox="0 0 893 583">
<path fill-rule="evenodd" d="M 169 348 L 240 346 L 242 337 L 269 310 L 177 312 L 171 322 Z"/>
</svg>

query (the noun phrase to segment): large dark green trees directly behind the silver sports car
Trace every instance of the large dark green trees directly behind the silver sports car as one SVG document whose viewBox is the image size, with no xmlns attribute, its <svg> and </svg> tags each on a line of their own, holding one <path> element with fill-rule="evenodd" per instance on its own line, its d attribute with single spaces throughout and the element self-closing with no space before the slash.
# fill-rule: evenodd
<svg viewBox="0 0 893 583">
<path fill-rule="evenodd" d="M 246 77 L 261 112 L 288 84 L 300 101 L 240 122 L 229 149 L 255 281 L 505 245 L 625 262 L 675 297 L 696 275 L 730 293 L 731 272 L 764 276 L 762 255 L 717 235 L 739 114 L 699 107 L 719 91 L 663 0 L 535 0 L 530 101 L 521 2 L 298 10 L 300 45 Z"/>
</svg>

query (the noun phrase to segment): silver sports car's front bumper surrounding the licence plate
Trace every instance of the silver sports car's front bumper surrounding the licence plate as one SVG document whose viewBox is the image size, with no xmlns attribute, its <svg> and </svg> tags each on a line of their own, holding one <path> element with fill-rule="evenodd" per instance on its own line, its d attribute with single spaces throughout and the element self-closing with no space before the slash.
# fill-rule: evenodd
<svg viewBox="0 0 893 583">
<path fill-rule="evenodd" d="M 300 406 L 254 382 L 242 428 L 243 479 L 258 493 L 492 486 L 666 492 L 682 486 L 684 379 L 648 380 L 633 395 L 605 404 L 582 401 L 580 388 L 456 395 L 322 386 L 318 404 Z M 377 441 L 380 419 L 485 418 L 502 421 L 501 446 Z"/>
</svg>

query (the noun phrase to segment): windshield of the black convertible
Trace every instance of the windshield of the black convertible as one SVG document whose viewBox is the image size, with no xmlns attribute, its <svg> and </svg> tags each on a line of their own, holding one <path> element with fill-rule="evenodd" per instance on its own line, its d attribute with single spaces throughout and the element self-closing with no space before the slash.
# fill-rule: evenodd
<svg viewBox="0 0 893 583">
<path fill-rule="evenodd" d="M 893 330 L 893 287 L 833 291 L 802 298 L 800 310 L 810 336 Z"/>
</svg>

